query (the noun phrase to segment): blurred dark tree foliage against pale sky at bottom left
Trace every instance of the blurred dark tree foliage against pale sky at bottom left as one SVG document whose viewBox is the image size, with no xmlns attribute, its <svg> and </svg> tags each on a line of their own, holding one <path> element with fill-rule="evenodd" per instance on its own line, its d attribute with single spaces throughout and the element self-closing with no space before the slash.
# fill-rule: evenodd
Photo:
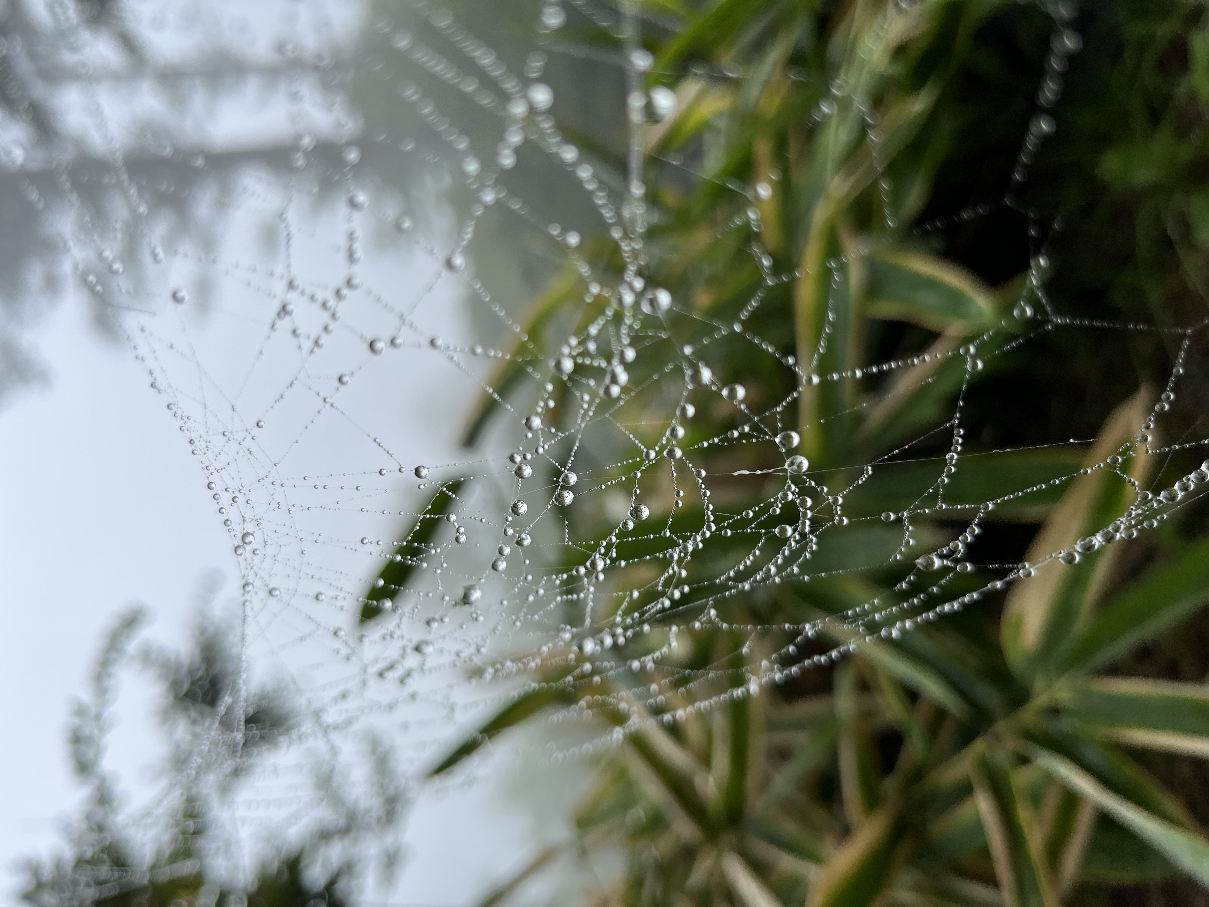
<svg viewBox="0 0 1209 907">
<path fill-rule="evenodd" d="M 180 654 L 147 642 L 134 649 L 141 619 L 132 611 L 117 622 L 89 698 L 75 705 L 70 744 L 87 790 L 83 813 L 68 827 L 66 853 L 27 867 L 22 900 L 35 907 L 345 907 L 346 870 L 314 878 L 307 848 L 270 860 L 250 884 L 215 874 L 218 866 L 230 871 L 213 853 L 216 797 L 289 734 L 294 717 L 279 693 L 244 688 L 238 647 L 218 623 L 199 623 L 192 651 Z M 132 664 L 161 681 L 161 724 L 172 736 L 166 775 L 184 781 L 138 816 L 105 767 L 118 676 Z"/>
</svg>

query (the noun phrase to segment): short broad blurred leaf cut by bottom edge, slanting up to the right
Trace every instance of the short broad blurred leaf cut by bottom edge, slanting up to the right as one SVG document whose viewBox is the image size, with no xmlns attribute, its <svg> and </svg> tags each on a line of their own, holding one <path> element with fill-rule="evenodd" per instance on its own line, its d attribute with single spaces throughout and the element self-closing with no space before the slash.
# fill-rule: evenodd
<svg viewBox="0 0 1209 907">
<path fill-rule="evenodd" d="M 844 839 L 810 885 L 806 907 L 866 907 L 886 888 L 899 862 L 899 807 L 886 802 Z"/>
</svg>

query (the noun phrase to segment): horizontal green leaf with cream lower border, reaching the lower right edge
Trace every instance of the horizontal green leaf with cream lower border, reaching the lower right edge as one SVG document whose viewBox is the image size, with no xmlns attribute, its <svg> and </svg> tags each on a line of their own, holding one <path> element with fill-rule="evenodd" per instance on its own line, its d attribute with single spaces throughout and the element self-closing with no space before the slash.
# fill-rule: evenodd
<svg viewBox="0 0 1209 907">
<path fill-rule="evenodd" d="M 1103 736 L 1149 750 L 1209 758 L 1209 686 L 1150 677 L 1092 677 L 1057 700 Z"/>
</svg>

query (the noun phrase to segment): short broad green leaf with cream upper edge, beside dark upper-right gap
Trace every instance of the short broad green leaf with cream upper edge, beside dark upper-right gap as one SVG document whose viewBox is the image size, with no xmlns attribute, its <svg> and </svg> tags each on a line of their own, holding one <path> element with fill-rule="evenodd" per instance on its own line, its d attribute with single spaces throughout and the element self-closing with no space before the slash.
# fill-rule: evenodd
<svg viewBox="0 0 1209 907">
<path fill-rule="evenodd" d="M 966 334 L 995 318 L 991 289 L 951 261 L 914 249 L 891 249 L 867 259 L 867 265 L 864 311 L 870 318 Z"/>
</svg>

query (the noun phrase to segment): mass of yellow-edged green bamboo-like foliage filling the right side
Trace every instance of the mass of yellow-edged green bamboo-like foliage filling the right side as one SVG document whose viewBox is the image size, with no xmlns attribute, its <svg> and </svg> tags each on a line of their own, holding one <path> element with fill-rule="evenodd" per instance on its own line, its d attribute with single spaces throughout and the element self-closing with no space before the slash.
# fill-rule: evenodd
<svg viewBox="0 0 1209 907">
<path fill-rule="evenodd" d="M 677 105 L 646 127 L 644 210 L 627 216 L 648 226 L 635 247 L 648 282 L 693 316 L 669 313 L 677 341 L 713 336 L 717 383 L 741 380 L 751 411 L 800 392 L 789 423 L 804 426 L 811 470 L 831 470 L 833 489 L 867 478 L 845 496 L 854 520 L 908 508 L 958 449 L 950 503 L 1039 490 L 985 513 L 980 533 L 937 509 L 913 521 L 915 553 L 949 542 L 954 559 L 974 562 L 974 573 L 954 571 L 930 590 L 948 601 L 942 620 L 891 632 L 909 560 L 890 560 L 901 533 L 874 522 L 854 530 L 855 548 L 818 550 L 812 567 L 860 573 L 729 597 L 717 606 L 721 626 L 682 632 L 660 662 L 649 655 L 669 642 L 672 618 L 652 619 L 649 634 L 619 635 L 596 653 L 604 684 L 539 676 L 549 683 L 434 769 L 452 770 L 551 706 L 574 705 L 604 730 L 625 727 L 575 815 L 583 850 L 619 849 L 625 868 L 585 888 L 584 902 L 1209 903 L 1207 512 L 1184 508 L 1141 536 L 1115 522 L 1134 489 L 1167 487 L 1197 469 L 1192 451 L 1151 456 L 1135 438 L 1184 335 L 1080 320 L 1159 329 L 1204 320 L 1205 13 L 1202 2 L 1175 0 L 1082 11 L 1065 0 L 642 5 L 655 59 L 646 87 L 671 89 Z M 604 30 L 575 37 L 620 52 Z M 594 149 L 608 181 L 624 184 L 623 135 L 565 132 Z M 597 273 L 631 276 L 612 243 L 586 248 Z M 792 282 L 770 279 L 794 270 Z M 534 302 L 525 325 L 550 340 L 551 358 L 583 352 L 555 349 L 566 331 L 551 325 L 574 322 L 582 334 L 602 311 L 603 301 L 583 302 L 573 278 Z M 717 328 L 731 323 L 729 334 Z M 1028 342 L 967 376 L 990 328 Z M 810 362 L 825 334 L 825 352 Z M 751 354 L 751 337 L 773 354 Z M 607 342 L 597 339 L 606 360 Z M 650 432 L 640 440 L 654 446 L 676 401 L 648 380 L 678 351 L 654 334 L 646 342 L 630 368 L 626 393 L 640 389 L 627 424 Z M 1180 394 L 1163 420 L 1170 438 L 1191 433 L 1209 406 L 1205 353 L 1203 331 L 1188 335 Z M 799 388 L 777 363 L 794 356 L 814 371 L 856 377 Z M 901 359 L 918 364 L 875 366 Z M 492 386 L 514 389 L 519 369 L 505 362 Z M 953 446 L 959 393 L 964 434 Z M 695 394 L 686 447 L 746 421 L 740 408 Z M 571 403 L 562 398 L 550 421 L 569 426 Z M 485 397 L 470 441 L 497 411 Z M 931 458 L 926 468 L 891 464 L 863 476 L 850 466 L 908 441 L 913 460 Z M 737 519 L 775 496 L 780 479 L 727 476 L 775 469 L 788 452 L 696 447 L 693 460 L 713 476 L 715 507 Z M 1122 472 L 1080 472 L 1115 452 Z M 602 481 L 626 468 L 586 440 L 580 458 Z M 591 551 L 612 520 L 575 509 L 571 538 Z M 707 519 L 670 507 L 652 518 L 666 520 L 671 541 L 617 542 L 620 558 L 675 547 Z M 758 532 L 756 521 L 746 528 Z M 742 528 L 715 533 L 708 562 L 692 561 L 692 585 L 750 551 L 754 536 Z M 967 597 L 989 582 L 979 554 L 1026 562 L 1076 545 L 1082 556 L 1070 566 Z M 571 562 L 578 556 L 572 548 Z M 825 624 L 831 637 L 791 649 L 791 664 L 800 663 L 863 637 L 852 657 L 800 675 L 777 665 L 774 653 L 796 632 L 777 626 L 870 601 L 889 603 L 885 626 L 873 616 Z M 679 605 L 690 610 L 692 600 Z M 690 674 L 706 669 L 712 686 Z M 756 675 L 768 671 L 779 683 L 763 688 Z M 692 689 L 686 675 L 698 677 Z M 723 704 L 683 710 L 705 697 Z"/>
</svg>

